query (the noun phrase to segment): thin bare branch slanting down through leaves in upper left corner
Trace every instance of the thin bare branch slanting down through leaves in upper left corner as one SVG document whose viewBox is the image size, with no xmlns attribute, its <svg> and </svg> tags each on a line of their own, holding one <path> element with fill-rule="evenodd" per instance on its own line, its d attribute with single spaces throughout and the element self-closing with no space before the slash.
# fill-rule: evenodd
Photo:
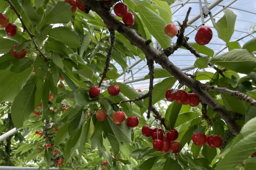
<svg viewBox="0 0 256 170">
<path fill-rule="evenodd" d="M 15 6 L 13 5 L 12 1 L 11 0 L 5 0 L 7 1 L 11 8 L 14 10 L 14 12 L 16 13 L 16 15 L 18 16 L 22 26 L 23 26 L 23 29 L 27 31 L 28 35 L 30 36 L 32 42 L 34 43 L 35 47 L 36 47 L 36 50 L 39 52 L 40 56 L 42 56 L 45 61 L 48 61 L 48 58 L 42 53 L 42 51 L 40 50 L 40 48 L 38 47 L 37 43 L 35 42 L 35 40 L 33 40 L 33 38 L 35 37 L 35 35 L 33 35 L 29 30 L 28 28 L 26 27 L 25 23 L 23 22 L 22 18 L 20 17 L 19 15 L 19 12 L 17 11 L 17 9 L 15 8 Z"/>
</svg>

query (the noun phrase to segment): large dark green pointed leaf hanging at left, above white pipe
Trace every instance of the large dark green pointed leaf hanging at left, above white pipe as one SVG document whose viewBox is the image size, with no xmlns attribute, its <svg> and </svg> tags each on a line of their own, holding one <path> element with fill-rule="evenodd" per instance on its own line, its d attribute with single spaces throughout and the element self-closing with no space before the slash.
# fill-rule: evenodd
<svg viewBox="0 0 256 170">
<path fill-rule="evenodd" d="M 11 115 L 17 129 L 23 126 L 24 121 L 34 111 L 35 93 L 36 76 L 32 76 L 13 101 Z"/>
</svg>

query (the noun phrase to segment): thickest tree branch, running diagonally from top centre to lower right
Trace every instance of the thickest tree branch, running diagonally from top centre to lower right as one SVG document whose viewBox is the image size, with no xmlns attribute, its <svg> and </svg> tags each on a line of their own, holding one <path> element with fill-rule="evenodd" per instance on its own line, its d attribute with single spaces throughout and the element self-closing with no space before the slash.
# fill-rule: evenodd
<svg viewBox="0 0 256 170">
<path fill-rule="evenodd" d="M 155 49 L 152 45 L 147 44 L 147 41 L 137 34 L 137 31 L 126 27 L 118 19 L 113 18 L 109 12 L 110 9 L 103 8 L 101 3 L 93 0 L 81 0 L 84 4 L 90 6 L 90 8 L 95 11 L 110 27 L 111 29 L 117 30 L 120 34 L 125 36 L 131 44 L 139 47 L 146 56 L 155 60 L 156 63 L 160 64 L 162 68 L 166 69 L 170 74 L 172 74 L 181 84 L 189 87 L 194 93 L 196 93 L 201 101 L 211 107 L 215 112 L 217 112 L 222 119 L 227 123 L 230 131 L 234 135 L 238 135 L 241 128 L 238 126 L 236 121 L 233 119 L 229 111 L 223 108 L 211 95 L 206 91 L 198 89 L 194 86 L 195 80 L 190 79 L 186 74 L 184 74 L 178 67 L 176 67 L 172 62 L 169 61 L 168 55 L 164 51 L 159 51 Z M 164 29 L 164 28 L 163 28 Z M 184 37 L 184 36 L 183 36 Z"/>
</svg>

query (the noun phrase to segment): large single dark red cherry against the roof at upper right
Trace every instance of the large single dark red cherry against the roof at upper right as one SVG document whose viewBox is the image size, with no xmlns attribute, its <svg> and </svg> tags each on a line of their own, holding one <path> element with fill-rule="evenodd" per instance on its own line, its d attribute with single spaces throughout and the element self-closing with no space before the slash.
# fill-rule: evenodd
<svg viewBox="0 0 256 170">
<path fill-rule="evenodd" d="M 211 41 L 212 31 L 209 27 L 202 26 L 198 29 L 195 41 L 199 45 L 206 45 Z"/>
</svg>

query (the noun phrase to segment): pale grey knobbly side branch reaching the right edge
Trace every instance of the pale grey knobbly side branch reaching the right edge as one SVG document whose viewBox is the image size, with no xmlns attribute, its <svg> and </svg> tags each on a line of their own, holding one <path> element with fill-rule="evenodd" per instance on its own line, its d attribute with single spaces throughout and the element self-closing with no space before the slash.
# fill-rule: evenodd
<svg viewBox="0 0 256 170">
<path fill-rule="evenodd" d="M 231 96 L 234 96 L 240 100 L 243 100 L 247 103 L 250 103 L 253 106 L 256 106 L 256 100 L 251 98 L 250 96 L 241 93 L 240 91 L 233 91 L 230 89 L 227 89 L 225 87 L 214 87 L 214 86 L 208 86 L 206 84 L 200 83 L 199 81 L 197 82 L 197 88 L 202 89 L 202 90 L 208 90 L 208 91 L 217 91 L 217 92 L 223 92 L 223 93 L 227 93 Z"/>
</svg>

